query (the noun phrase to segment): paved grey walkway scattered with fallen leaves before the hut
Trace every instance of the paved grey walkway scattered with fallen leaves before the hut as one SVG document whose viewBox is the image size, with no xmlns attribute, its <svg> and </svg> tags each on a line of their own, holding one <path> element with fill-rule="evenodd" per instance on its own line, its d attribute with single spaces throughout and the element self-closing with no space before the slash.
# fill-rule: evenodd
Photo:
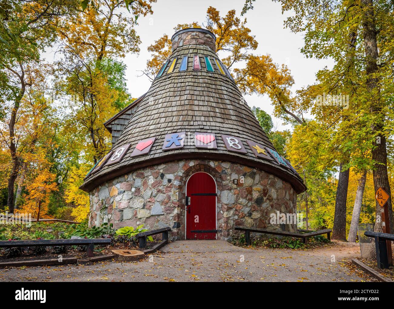
<svg viewBox="0 0 394 309">
<path fill-rule="evenodd" d="M 0 281 L 361 281 L 340 262 L 359 247 L 245 249 L 222 240 L 170 243 L 140 262 L 0 269 Z"/>
</svg>

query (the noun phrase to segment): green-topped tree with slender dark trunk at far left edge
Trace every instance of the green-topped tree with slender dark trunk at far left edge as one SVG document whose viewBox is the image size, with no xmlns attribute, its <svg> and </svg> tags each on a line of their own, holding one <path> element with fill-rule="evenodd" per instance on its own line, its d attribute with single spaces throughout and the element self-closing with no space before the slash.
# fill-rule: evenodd
<svg viewBox="0 0 394 309">
<path fill-rule="evenodd" d="M 8 177 L 7 206 L 14 210 L 14 190 L 20 160 L 17 154 L 15 124 L 26 88 L 32 85 L 31 68 L 40 51 L 56 38 L 59 17 L 69 16 L 76 1 L 12 0 L 0 2 L 0 102 L 6 106 L 8 149 L 12 167 Z"/>
</svg>

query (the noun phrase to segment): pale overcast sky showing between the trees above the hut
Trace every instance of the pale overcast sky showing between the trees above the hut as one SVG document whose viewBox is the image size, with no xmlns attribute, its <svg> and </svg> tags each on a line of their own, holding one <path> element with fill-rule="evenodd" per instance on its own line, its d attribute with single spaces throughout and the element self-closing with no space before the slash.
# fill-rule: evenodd
<svg viewBox="0 0 394 309">
<path fill-rule="evenodd" d="M 133 97 L 139 97 L 149 89 L 151 82 L 146 76 L 139 76 L 139 71 L 145 69 L 146 62 L 151 58 L 147 47 L 163 34 L 171 37 L 174 34 L 173 28 L 177 24 L 191 23 L 193 21 L 202 24 L 206 21 L 206 10 L 209 6 L 220 11 L 220 16 L 235 9 L 240 17 L 244 0 L 158 0 L 152 4 L 154 13 L 138 19 L 139 24 L 136 31 L 141 37 L 139 55 L 126 54 L 122 61 L 127 65 L 126 79 L 128 90 Z M 242 17 L 247 18 L 247 27 L 251 29 L 251 34 L 256 36 L 258 48 L 254 54 L 270 54 L 277 64 L 286 64 L 294 77 L 295 85 L 293 90 L 303 86 L 313 84 L 315 73 L 325 67 L 332 67 L 331 60 L 316 60 L 306 58 L 301 54 L 303 46 L 302 34 L 294 34 L 288 29 L 284 29 L 283 21 L 286 15 L 282 15 L 281 5 L 270 0 L 258 0 L 254 4 L 254 9 L 250 10 Z M 49 62 L 53 60 L 54 52 L 47 51 L 43 55 Z M 277 129 L 291 129 L 289 125 L 282 125 L 282 121 L 272 114 L 272 105 L 268 96 L 251 95 L 245 97 L 250 107 L 257 106 L 265 110 L 272 116 Z"/>
</svg>

